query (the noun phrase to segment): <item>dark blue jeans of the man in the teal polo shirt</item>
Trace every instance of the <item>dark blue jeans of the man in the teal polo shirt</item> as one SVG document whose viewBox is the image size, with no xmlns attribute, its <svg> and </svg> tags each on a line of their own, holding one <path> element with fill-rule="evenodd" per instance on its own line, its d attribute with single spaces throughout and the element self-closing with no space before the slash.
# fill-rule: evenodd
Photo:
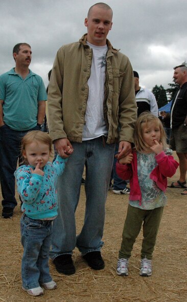
<svg viewBox="0 0 187 302">
<path fill-rule="evenodd" d="M 30 130 L 39 130 L 39 127 Z M 17 205 L 14 172 L 17 168 L 17 160 L 20 159 L 21 138 L 30 130 L 15 131 L 7 125 L 0 128 L 0 180 L 3 207 L 14 208 Z"/>
</svg>

